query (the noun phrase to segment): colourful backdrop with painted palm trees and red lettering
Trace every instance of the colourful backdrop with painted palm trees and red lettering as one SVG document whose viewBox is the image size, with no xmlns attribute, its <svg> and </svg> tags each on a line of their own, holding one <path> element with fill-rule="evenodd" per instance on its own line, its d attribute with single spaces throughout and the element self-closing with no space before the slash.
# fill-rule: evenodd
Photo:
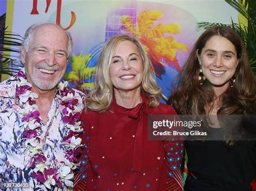
<svg viewBox="0 0 256 191">
<path fill-rule="evenodd" d="M 147 49 L 165 96 L 170 84 L 203 31 L 197 22 L 238 21 L 238 13 L 222 0 L 81 1 L 0 0 L 8 30 L 24 35 L 34 23 L 53 22 L 69 31 L 74 49 L 65 78 L 73 87 L 93 88 L 93 72 L 104 42 L 117 34 L 135 34 Z M 5 52 L 5 54 L 9 54 Z M 12 58 L 18 54 L 12 53 Z M 10 66 L 12 67 L 12 66 Z M 2 80 L 8 76 L 2 75 Z"/>
</svg>

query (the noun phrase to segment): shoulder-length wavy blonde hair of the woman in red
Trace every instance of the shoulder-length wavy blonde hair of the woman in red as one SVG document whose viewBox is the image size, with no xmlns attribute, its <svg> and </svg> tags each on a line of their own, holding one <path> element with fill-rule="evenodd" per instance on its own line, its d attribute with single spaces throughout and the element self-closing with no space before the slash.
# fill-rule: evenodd
<svg viewBox="0 0 256 191">
<path fill-rule="evenodd" d="M 158 87 L 152 74 L 152 64 L 138 39 L 125 34 L 110 38 L 104 45 L 99 55 L 96 69 L 95 89 L 85 99 L 87 110 L 105 112 L 108 111 L 113 101 L 113 85 L 110 80 L 109 68 L 116 46 L 121 41 L 131 41 L 138 48 L 143 63 L 142 93 L 150 99 L 149 107 L 157 107 L 160 102 L 161 89 Z"/>
</svg>

